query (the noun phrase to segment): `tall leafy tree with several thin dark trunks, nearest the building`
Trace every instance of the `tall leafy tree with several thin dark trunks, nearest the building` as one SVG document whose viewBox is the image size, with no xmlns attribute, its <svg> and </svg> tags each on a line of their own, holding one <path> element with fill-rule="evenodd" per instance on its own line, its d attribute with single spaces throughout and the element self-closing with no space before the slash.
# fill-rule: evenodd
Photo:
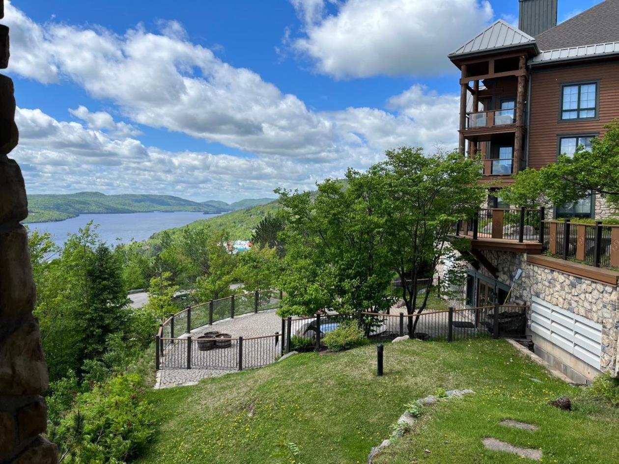
<svg viewBox="0 0 619 464">
<path fill-rule="evenodd" d="M 386 157 L 369 173 L 383 179 L 379 215 L 389 264 L 402 281 L 408 314 L 419 314 L 428 302 L 427 290 L 439 260 L 451 246 L 463 246 L 450 242 L 453 224 L 470 217 L 483 200 L 480 165 L 456 152 L 427 156 L 420 148 L 409 147 L 389 150 Z M 417 321 L 409 318 L 410 335 Z"/>
</svg>

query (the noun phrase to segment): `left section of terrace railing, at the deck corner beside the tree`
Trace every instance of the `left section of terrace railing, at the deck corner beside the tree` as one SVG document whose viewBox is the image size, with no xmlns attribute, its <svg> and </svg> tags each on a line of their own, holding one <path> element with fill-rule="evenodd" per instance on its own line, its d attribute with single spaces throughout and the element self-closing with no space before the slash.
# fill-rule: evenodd
<svg viewBox="0 0 619 464">
<path fill-rule="evenodd" d="M 457 236 L 536 241 L 543 243 L 544 208 L 484 208 L 469 220 L 458 221 Z"/>
</svg>

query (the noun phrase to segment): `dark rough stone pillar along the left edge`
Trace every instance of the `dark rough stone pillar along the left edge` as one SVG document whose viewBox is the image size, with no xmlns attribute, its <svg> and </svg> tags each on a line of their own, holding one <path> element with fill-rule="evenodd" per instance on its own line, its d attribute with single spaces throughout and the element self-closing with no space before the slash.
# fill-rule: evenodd
<svg viewBox="0 0 619 464">
<path fill-rule="evenodd" d="M 0 18 L 4 16 L 0 0 Z M 9 29 L 0 25 L 0 68 L 9 61 Z M 0 75 L 0 463 L 55 464 L 56 446 L 40 434 L 47 424 L 41 396 L 48 372 L 38 321 L 28 237 L 24 178 L 7 155 L 17 145 L 13 82 Z"/>
</svg>

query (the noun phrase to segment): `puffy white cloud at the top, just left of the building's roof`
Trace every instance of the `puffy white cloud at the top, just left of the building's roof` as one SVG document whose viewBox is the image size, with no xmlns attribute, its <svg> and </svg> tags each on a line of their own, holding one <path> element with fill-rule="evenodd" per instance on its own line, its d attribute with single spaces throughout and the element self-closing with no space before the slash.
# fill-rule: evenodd
<svg viewBox="0 0 619 464">
<path fill-rule="evenodd" d="M 447 54 L 493 17 L 485 0 L 347 0 L 316 20 L 323 2 L 291 1 L 306 21 L 293 47 L 338 79 L 452 71 Z"/>
</svg>

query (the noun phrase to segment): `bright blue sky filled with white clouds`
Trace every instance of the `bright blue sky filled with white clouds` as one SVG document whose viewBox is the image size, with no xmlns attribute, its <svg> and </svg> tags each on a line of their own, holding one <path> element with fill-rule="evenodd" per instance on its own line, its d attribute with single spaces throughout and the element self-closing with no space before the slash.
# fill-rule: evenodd
<svg viewBox="0 0 619 464">
<path fill-rule="evenodd" d="M 597 0 L 559 0 L 568 19 Z M 517 0 L 5 0 L 27 191 L 274 197 L 457 144 L 447 54 Z"/>
</svg>

